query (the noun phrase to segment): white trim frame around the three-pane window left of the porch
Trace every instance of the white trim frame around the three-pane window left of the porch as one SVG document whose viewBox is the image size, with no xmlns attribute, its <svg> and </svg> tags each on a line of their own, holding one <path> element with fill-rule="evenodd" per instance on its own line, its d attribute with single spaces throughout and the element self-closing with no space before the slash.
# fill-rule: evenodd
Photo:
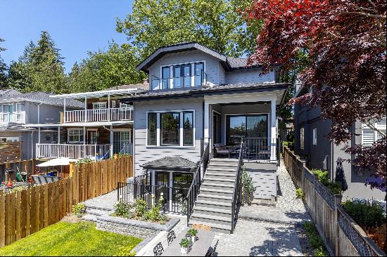
<svg viewBox="0 0 387 257">
<path fill-rule="evenodd" d="M 161 145 L 160 144 L 160 114 L 165 113 L 165 112 L 179 112 L 180 115 L 180 138 L 179 138 L 179 143 L 180 145 Z M 183 145 L 183 127 L 182 127 L 182 115 L 183 112 L 193 112 L 193 128 L 194 128 L 194 145 Z M 156 113 L 156 143 L 157 145 L 148 145 L 148 114 L 149 113 Z M 182 148 L 182 149 L 193 149 L 196 147 L 196 126 L 195 126 L 195 110 L 167 110 L 167 111 L 149 111 L 146 112 L 146 138 L 145 138 L 145 146 L 146 148 Z"/>
</svg>

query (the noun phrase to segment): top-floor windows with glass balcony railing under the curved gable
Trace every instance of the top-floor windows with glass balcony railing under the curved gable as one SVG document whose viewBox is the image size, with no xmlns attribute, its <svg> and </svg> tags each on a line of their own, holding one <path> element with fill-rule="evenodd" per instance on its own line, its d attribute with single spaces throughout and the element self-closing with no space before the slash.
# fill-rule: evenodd
<svg viewBox="0 0 387 257">
<path fill-rule="evenodd" d="M 187 88 L 203 86 L 205 82 L 204 62 L 190 62 L 177 65 L 162 66 L 161 79 L 152 76 L 152 90 Z"/>
</svg>

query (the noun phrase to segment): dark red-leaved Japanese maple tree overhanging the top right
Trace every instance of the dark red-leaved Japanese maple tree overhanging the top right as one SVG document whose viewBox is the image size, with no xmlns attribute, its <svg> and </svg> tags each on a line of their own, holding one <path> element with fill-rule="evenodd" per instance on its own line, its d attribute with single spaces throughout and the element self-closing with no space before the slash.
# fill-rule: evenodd
<svg viewBox="0 0 387 257">
<path fill-rule="evenodd" d="M 377 130 L 373 122 L 386 117 L 386 0 L 255 0 L 244 14 L 263 23 L 250 64 L 291 70 L 307 55 L 299 79 L 312 93 L 290 103 L 321 105 L 336 144 L 348 144 L 355 121 Z M 386 190 L 386 132 L 378 133 L 372 147 L 345 150 L 374 171 L 368 184 Z"/>
</svg>

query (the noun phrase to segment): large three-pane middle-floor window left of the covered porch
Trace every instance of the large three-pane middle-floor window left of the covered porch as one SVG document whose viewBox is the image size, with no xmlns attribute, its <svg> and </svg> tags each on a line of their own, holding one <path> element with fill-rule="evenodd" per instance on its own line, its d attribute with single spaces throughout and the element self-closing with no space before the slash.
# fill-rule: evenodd
<svg viewBox="0 0 387 257">
<path fill-rule="evenodd" d="M 194 146 L 194 112 L 148 112 L 147 145 Z"/>
</svg>

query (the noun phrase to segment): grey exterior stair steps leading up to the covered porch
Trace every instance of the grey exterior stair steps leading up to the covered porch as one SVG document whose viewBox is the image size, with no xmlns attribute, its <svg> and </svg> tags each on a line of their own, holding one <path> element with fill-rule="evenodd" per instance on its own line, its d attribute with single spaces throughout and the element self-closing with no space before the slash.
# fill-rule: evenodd
<svg viewBox="0 0 387 257">
<path fill-rule="evenodd" d="M 231 233 L 232 198 L 238 159 L 210 159 L 189 225 L 209 225 L 212 231 Z"/>
</svg>

